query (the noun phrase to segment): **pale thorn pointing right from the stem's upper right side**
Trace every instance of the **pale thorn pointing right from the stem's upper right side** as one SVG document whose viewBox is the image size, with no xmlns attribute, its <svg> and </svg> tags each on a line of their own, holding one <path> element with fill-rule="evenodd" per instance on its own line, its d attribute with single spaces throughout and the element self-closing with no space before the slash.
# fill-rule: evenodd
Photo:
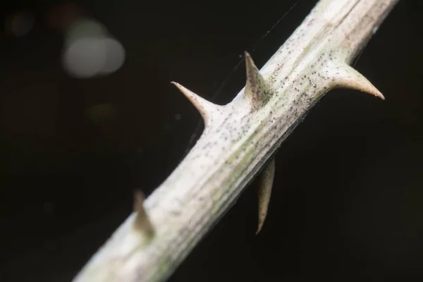
<svg viewBox="0 0 423 282">
<path fill-rule="evenodd" d="M 383 100 L 385 99 L 384 95 L 372 85 L 372 82 L 346 63 L 333 64 L 329 66 L 328 70 L 329 78 L 334 78 L 334 82 L 338 87 L 360 90 Z"/>
</svg>

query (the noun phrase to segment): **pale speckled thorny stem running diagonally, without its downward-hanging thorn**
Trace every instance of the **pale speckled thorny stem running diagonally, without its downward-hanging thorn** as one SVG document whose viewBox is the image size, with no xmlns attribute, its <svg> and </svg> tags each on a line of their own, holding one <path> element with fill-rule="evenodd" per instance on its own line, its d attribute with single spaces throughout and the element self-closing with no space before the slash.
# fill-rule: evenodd
<svg viewBox="0 0 423 282">
<path fill-rule="evenodd" d="M 166 280 L 326 92 L 350 87 L 383 98 L 348 63 L 397 2 L 319 1 L 259 72 L 246 56 L 247 86 L 225 106 L 176 84 L 200 110 L 202 136 L 74 281 Z"/>
</svg>

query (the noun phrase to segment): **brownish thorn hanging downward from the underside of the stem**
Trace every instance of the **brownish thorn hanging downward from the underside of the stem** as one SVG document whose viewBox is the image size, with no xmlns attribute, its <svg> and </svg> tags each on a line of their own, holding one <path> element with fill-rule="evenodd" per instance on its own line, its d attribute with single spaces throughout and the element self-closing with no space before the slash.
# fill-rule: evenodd
<svg viewBox="0 0 423 282">
<path fill-rule="evenodd" d="M 269 202 L 271 196 L 271 188 L 273 186 L 275 176 L 275 159 L 271 159 L 260 174 L 259 179 L 259 227 L 256 235 L 262 230 L 264 220 L 267 216 L 267 209 L 269 209 Z"/>
</svg>

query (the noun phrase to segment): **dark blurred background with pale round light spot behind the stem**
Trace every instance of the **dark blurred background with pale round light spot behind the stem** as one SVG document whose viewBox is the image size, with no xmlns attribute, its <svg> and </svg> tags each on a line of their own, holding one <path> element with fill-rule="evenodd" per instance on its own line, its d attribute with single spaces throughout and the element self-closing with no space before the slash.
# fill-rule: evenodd
<svg viewBox="0 0 423 282">
<path fill-rule="evenodd" d="M 170 82 L 230 102 L 316 2 L 2 3 L 0 281 L 71 281 L 201 134 Z M 385 101 L 333 90 L 283 143 L 262 232 L 254 182 L 169 281 L 421 281 L 422 12 L 355 64 Z"/>
</svg>

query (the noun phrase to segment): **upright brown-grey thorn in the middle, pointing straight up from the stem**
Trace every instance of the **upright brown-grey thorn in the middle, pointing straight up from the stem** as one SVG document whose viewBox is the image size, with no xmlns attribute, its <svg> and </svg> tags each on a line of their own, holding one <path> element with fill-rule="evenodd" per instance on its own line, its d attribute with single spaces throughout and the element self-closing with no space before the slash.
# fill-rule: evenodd
<svg viewBox="0 0 423 282">
<path fill-rule="evenodd" d="M 247 72 L 247 83 L 245 85 L 244 97 L 251 100 L 252 107 L 259 109 L 260 106 L 269 101 L 269 91 L 266 87 L 266 81 L 259 72 L 250 54 L 247 51 L 245 55 L 245 69 Z"/>
</svg>

